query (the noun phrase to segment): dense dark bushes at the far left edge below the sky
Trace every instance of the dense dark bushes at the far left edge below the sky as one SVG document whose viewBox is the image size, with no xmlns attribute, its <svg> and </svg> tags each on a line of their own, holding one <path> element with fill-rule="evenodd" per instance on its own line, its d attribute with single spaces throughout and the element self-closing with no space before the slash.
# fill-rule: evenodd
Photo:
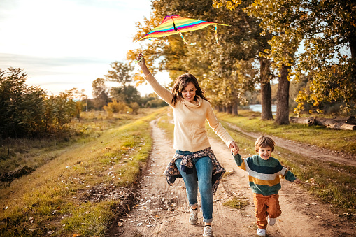
<svg viewBox="0 0 356 237">
<path fill-rule="evenodd" d="M 0 70 L 0 136 L 21 138 L 61 134 L 79 117 L 83 92 L 71 89 L 47 96 L 40 87 L 25 84 L 23 69 Z M 79 99 L 79 100 L 77 100 Z"/>
</svg>

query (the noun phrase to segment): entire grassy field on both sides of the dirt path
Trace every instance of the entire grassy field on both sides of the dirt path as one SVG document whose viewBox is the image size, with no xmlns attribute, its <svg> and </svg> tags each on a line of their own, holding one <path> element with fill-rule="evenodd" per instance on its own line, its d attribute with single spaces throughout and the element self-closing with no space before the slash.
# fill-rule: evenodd
<svg viewBox="0 0 356 237">
<path fill-rule="evenodd" d="M 103 113 L 83 113 L 80 120 L 71 124 L 79 132 L 69 139 L 10 141 L 12 146 L 1 148 L 3 173 L 24 166 L 33 171 L 1 182 L 1 236 L 105 236 L 113 221 L 136 205 L 138 180 L 152 150 L 150 121 L 160 117 L 157 124 L 171 140 L 171 115 L 169 108 L 110 118 Z M 238 116 L 225 113 L 217 116 L 238 142 L 241 152 L 247 155 L 253 154 L 255 139 L 232 129 L 229 124 L 355 155 L 355 131 L 300 124 L 277 127 L 245 110 Z M 209 134 L 215 136 L 213 131 Z M 329 203 L 330 210 L 342 220 L 355 223 L 355 166 L 320 162 L 277 149 L 276 158 L 284 166 L 304 182 L 317 184 L 305 185 L 305 190 L 323 203 Z"/>
</svg>

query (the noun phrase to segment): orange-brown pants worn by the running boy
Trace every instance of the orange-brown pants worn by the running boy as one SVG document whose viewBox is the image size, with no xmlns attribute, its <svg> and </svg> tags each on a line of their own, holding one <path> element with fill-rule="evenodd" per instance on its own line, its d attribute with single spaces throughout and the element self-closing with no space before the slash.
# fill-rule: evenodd
<svg viewBox="0 0 356 237">
<path fill-rule="evenodd" d="M 278 194 L 264 196 L 262 194 L 253 194 L 253 202 L 255 203 L 255 214 L 257 227 L 266 229 L 267 216 L 277 218 L 282 214 L 280 210 Z"/>
</svg>

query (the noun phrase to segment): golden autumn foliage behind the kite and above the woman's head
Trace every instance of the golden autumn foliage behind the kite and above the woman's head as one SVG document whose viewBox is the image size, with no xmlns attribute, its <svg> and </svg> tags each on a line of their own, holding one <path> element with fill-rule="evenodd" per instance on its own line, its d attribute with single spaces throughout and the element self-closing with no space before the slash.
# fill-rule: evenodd
<svg viewBox="0 0 356 237">
<path fill-rule="evenodd" d="M 184 34 L 188 43 L 196 45 L 185 45 L 179 35 L 168 36 L 162 41 L 142 45 L 140 50 L 129 51 L 127 59 L 133 62 L 138 52 L 143 52 L 152 73 L 169 71 L 172 80 L 182 73 L 194 74 L 215 105 L 237 106 L 238 103 L 245 103 L 245 91 L 254 89 L 258 80 L 254 66 L 261 50 L 258 24 L 242 11 L 217 11 L 207 0 L 153 1 L 152 8 L 154 11 L 150 20 L 137 24 L 138 33 L 134 40 L 157 26 L 165 15 L 172 14 L 229 24 L 231 27 L 218 26 L 218 44 L 215 32 L 207 27 Z M 135 80 L 143 82 L 139 74 L 136 74 Z"/>
</svg>

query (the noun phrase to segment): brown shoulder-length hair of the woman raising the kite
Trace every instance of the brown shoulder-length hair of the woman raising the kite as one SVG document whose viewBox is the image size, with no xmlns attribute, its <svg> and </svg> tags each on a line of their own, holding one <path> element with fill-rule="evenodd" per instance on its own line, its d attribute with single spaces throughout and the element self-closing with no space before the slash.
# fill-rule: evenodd
<svg viewBox="0 0 356 237">
<path fill-rule="evenodd" d="M 195 78 L 190 73 L 185 73 L 183 75 L 178 76 L 178 78 L 176 78 L 173 88 L 171 89 L 171 92 L 173 93 L 172 106 L 176 105 L 178 99 L 183 98 L 182 96 L 183 89 L 187 87 L 187 85 L 190 82 L 192 82 L 195 89 L 197 89 L 197 91 L 195 92 L 194 101 L 198 101 L 197 96 L 199 96 L 201 99 L 208 101 L 208 99 L 206 99 L 206 97 L 204 96 L 204 92 L 199 87 L 197 78 Z"/>
</svg>

